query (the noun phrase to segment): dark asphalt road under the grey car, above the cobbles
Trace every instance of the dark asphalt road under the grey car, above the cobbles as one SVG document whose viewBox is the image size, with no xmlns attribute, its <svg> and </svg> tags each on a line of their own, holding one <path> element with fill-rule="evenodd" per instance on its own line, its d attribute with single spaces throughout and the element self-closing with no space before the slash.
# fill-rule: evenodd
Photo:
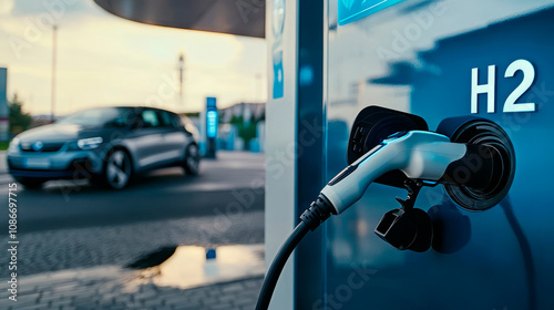
<svg viewBox="0 0 554 310">
<path fill-rule="evenodd" d="M 0 158 L 1 161 L 1 158 Z M 214 216 L 264 209 L 265 157 L 250 153 L 218 154 L 203 161 L 199 176 L 179 167 L 136 177 L 123 190 L 99 189 L 86 180 L 49 182 L 41 190 L 18 188 L 22 234 L 115 226 L 184 217 Z M 0 184 L 0 202 L 8 184 Z M 6 198 L 7 199 L 7 198 Z M 0 213 L 0 225 L 8 214 Z"/>
</svg>

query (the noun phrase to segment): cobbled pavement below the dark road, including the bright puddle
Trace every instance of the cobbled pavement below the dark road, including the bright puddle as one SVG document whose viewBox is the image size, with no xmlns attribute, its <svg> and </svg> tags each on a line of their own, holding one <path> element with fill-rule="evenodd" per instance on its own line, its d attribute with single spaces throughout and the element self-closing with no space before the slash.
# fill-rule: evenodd
<svg viewBox="0 0 554 310">
<path fill-rule="evenodd" d="M 254 309 L 264 275 L 263 218 L 244 214 L 224 231 L 204 217 L 29 234 L 20 244 L 28 246 L 20 275 L 57 271 L 19 276 L 18 301 L 3 289 L 0 309 Z M 204 247 L 173 246 L 183 242 Z M 216 258 L 207 260 L 211 248 Z"/>
</svg>

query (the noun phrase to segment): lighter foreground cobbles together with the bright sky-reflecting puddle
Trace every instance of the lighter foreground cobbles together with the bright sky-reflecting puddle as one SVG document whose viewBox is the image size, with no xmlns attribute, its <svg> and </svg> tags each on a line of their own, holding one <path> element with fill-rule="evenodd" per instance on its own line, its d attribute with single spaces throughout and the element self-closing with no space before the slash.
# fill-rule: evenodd
<svg viewBox="0 0 554 310">
<path fill-rule="evenodd" d="M 264 245 L 165 247 L 126 268 L 101 266 L 18 279 L 1 309 L 253 309 Z"/>
</svg>

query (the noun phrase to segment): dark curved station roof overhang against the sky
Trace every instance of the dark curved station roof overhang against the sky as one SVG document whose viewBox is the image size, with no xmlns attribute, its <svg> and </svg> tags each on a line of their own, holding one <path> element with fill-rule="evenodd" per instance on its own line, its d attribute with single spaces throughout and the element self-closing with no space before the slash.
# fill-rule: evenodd
<svg viewBox="0 0 554 310">
<path fill-rule="evenodd" d="M 265 37 L 265 0 L 94 0 L 117 17 L 163 27 Z"/>
</svg>

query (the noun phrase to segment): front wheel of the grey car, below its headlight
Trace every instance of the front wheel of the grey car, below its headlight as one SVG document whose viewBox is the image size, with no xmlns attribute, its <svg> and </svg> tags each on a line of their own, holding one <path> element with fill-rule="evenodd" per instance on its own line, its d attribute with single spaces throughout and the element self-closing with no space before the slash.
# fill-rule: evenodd
<svg viewBox="0 0 554 310">
<path fill-rule="evenodd" d="M 132 167 L 129 154 L 123 149 L 113 149 L 106 157 L 103 184 L 110 188 L 122 189 L 131 178 Z"/>
</svg>

